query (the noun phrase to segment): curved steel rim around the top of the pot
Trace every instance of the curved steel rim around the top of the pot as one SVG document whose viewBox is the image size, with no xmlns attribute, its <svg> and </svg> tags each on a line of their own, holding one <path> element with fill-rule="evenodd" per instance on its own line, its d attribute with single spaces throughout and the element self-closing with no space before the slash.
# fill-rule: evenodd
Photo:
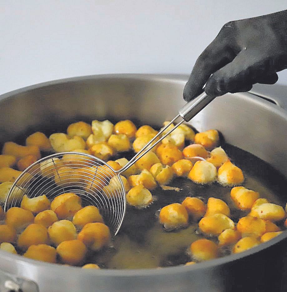
<svg viewBox="0 0 287 292">
<path fill-rule="evenodd" d="M 76 82 L 76 81 L 84 81 L 84 80 L 94 80 L 94 79 L 136 79 L 136 80 L 166 80 L 168 82 L 182 82 L 185 84 L 188 80 L 188 75 L 184 74 L 100 74 L 100 75 L 87 75 L 87 76 L 80 76 L 80 77 L 70 77 L 70 78 L 64 78 L 64 79 L 58 79 L 58 80 L 52 80 L 48 82 L 42 82 L 35 85 L 23 87 L 17 90 L 13 90 L 7 93 L 4 93 L 0 95 L 0 101 L 9 97 L 12 97 L 16 94 L 21 94 L 23 92 L 27 92 L 30 90 L 38 89 L 41 87 L 48 87 L 51 85 L 57 85 L 61 83 L 69 83 L 69 82 Z M 260 106 L 264 106 L 266 108 L 269 108 L 271 111 L 275 112 L 276 114 L 280 115 L 281 117 L 285 118 L 287 120 L 287 113 L 285 110 L 281 109 L 277 105 L 270 103 L 269 101 L 266 101 L 260 97 L 257 97 L 251 93 L 241 92 L 236 93 L 241 98 L 248 99 L 250 101 L 250 97 L 252 97 L 252 101 L 256 104 L 259 104 Z M 204 270 L 206 268 L 215 267 L 218 265 L 223 265 L 227 262 L 232 262 L 236 260 L 240 260 L 242 258 L 245 258 L 249 255 L 258 253 L 262 250 L 265 250 L 269 248 L 270 246 L 273 246 L 277 243 L 279 243 L 281 240 L 284 240 L 287 238 L 287 232 L 283 232 L 282 234 L 276 236 L 272 240 L 269 240 L 265 243 L 261 243 L 258 246 L 255 246 L 249 250 L 246 250 L 244 252 L 238 253 L 238 254 L 231 254 L 227 256 L 223 256 L 221 258 L 217 258 L 214 260 L 207 260 L 201 263 L 197 263 L 196 265 L 179 265 L 179 266 L 173 266 L 173 267 L 165 267 L 163 269 L 123 269 L 123 270 L 117 270 L 117 269 L 100 269 L 100 270 L 89 270 L 89 269 L 79 269 L 79 267 L 74 266 L 63 266 L 61 264 L 51 264 L 46 262 L 41 262 L 37 260 L 32 260 L 29 258 L 25 258 L 23 256 L 19 255 L 13 255 L 5 251 L 0 250 L 0 258 L 4 261 L 13 261 L 14 266 L 21 265 L 22 263 L 27 263 L 31 266 L 41 266 L 43 269 L 53 269 L 55 273 L 62 273 L 67 271 L 67 269 L 70 269 L 70 272 L 75 272 L 77 274 L 80 273 L 81 276 L 85 275 L 99 275 L 99 276 L 117 276 L 117 277 L 129 277 L 129 276 L 150 276 L 150 275 L 169 275 L 169 274 L 178 274 L 182 272 L 188 272 L 192 270 Z M 1 266 L 0 266 L 0 269 Z"/>
</svg>

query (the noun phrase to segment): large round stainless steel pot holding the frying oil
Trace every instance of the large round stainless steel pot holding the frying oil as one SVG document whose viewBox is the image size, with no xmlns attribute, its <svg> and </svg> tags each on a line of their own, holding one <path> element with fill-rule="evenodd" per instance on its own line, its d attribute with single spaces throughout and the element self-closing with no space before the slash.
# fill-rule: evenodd
<svg viewBox="0 0 287 292">
<path fill-rule="evenodd" d="M 27 129 L 79 118 L 136 119 L 160 126 L 184 105 L 187 76 L 103 75 L 70 78 L 0 96 L 0 142 Z M 261 88 L 262 89 L 262 88 Z M 264 89 L 264 88 L 263 88 Z M 257 95 L 257 96 L 256 96 Z M 190 124 L 216 128 L 226 142 L 260 157 L 287 177 L 287 112 L 280 94 L 217 97 Z M 284 198 L 287 200 L 287 196 Z M 0 251 L 0 291 L 284 291 L 287 233 L 246 252 L 192 266 L 147 270 L 82 270 Z M 14 283 L 14 284 L 13 284 Z M 6 288 L 4 288 L 6 287 Z M 17 286 L 16 286 L 17 288 Z M 2 290 L 1 290 L 2 289 Z"/>
</svg>

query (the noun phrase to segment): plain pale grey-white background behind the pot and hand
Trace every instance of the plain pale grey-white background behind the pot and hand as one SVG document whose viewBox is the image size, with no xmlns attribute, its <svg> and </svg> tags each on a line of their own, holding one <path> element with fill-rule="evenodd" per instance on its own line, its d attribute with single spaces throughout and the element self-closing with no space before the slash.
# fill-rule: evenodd
<svg viewBox="0 0 287 292">
<path fill-rule="evenodd" d="M 231 20 L 286 0 L 0 0 L 0 93 L 103 73 L 189 74 Z M 287 85 L 287 70 L 279 83 Z"/>
</svg>

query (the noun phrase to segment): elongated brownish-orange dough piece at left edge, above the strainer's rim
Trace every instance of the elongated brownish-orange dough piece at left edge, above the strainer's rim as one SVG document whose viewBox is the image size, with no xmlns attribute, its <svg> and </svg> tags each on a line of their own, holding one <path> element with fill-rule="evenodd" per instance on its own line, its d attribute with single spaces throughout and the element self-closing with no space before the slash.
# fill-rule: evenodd
<svg viewBox="0 0 287 292">
<path fill-rule="evenodd" d="M 16 159 L 20 159 L 30 154 L 35 155 L 37 159 L 41 158 L 41 153 L 38 146 L 35 146 L 35 145 L 22 146 L 14 142 L 4 143 L 2 154 L 16 156 Z"/>
</svg>

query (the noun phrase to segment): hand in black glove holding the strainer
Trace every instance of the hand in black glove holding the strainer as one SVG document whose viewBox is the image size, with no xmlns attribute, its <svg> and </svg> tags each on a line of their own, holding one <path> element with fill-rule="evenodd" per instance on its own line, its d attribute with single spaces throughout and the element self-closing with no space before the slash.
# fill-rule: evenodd
<svg viewBox="0 0 287 292">
<path fill-rule="evenodd" d="M 274 84 L 287 68 L 287 10 L 226 23 L 198 57 L 183 91 L 186 101 L 203 92 L 246 92 Z M 211 76 L 212 74 L 212 76 Z"/>
</svg>

